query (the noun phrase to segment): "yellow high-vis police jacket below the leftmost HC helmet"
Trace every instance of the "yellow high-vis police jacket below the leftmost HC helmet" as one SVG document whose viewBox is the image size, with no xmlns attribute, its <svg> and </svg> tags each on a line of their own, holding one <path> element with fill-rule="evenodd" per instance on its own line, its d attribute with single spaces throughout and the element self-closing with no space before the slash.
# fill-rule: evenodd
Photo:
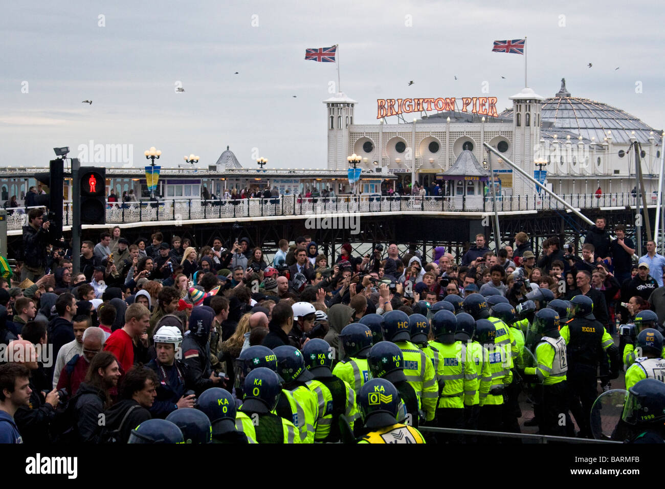
<svg viewBox="0 0 665 489">
<path fill-rule="evenodd" d="M 439 398 L 439 387 L 436 382 L 434 364 L 410 341 L 398 341 L 395 343 L 404 356 L 404 375 L 406 381 L 411 384 L 414 391 L 419 395 L 422 408 L 425 411 L 426 420 L 434 419 L 436 401 Z"/>
</svg>

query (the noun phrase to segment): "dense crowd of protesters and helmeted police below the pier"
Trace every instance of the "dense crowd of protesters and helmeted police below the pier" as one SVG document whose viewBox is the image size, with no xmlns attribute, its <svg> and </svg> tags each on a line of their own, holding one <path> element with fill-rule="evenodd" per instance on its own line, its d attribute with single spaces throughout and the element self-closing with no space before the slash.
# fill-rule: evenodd
<svg viewBox="0 0 665 489">
<path fill-rule="evenodd" d="M 478 234 L 458 257 L 345 243 L 332 262 L 311 236 L 264 253 L 120 227 L 72 257 L 28 218 L 0 278 L 0 442 L 492 442 L 418 427 L 519 432 L 523 391 L 526 426 L 591 438 L 598 378 L 623 363 L 636 399 L 662 384 L 665 257 L 604 218 L 580 254 L 519 232 L 497 253 Z M 635 404 L 626 436 L 662 441 Z"/>
</svg>

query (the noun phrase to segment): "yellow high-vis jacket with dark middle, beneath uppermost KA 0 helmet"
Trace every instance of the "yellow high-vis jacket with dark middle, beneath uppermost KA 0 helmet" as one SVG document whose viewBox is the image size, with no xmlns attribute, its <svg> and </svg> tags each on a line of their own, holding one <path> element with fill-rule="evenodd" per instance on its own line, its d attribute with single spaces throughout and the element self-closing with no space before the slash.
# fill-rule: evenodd
<svg viewBox="0 0 665 489">
<path fill-rule="evenodd" d="M 333 377 L 333 379 L 337 379 Z M 331 426 L 334 423 L 334 429 L 332 430 L 334 438 L 338 438 L 338 418 L 334 410 L 337 408 L 333 403 L 332 392 L 331 390 L 321 382 L 323 379 L 314 379 L 312 381 L 307 381 L 307 388 L 314 393 L 317 397 L 317 403 L 319 405 L 319 418 L 317 419 L 317 432 L 315 435 L 315 441 L 323 442 L 327 441 L 327 438 L 331 434 Z M 356 407 L 356 393 L 351 389 L 350 385 L 341 379 L 337 379 L 342 383 L 342 389 L 344 389 L 343 399 L 340 399 L 339 402 L 343 404 L 339 408 L 340 414 L 344 416 L 346 422 L 353 430 L 353 424 L 357 418 L 360 417 L 358 412 L 358 407 Z M 340 395 L 340 398 L 342 395 Z M 337 441 L 337 440 L 328 440 L 328 441 Z"/>
</svg>

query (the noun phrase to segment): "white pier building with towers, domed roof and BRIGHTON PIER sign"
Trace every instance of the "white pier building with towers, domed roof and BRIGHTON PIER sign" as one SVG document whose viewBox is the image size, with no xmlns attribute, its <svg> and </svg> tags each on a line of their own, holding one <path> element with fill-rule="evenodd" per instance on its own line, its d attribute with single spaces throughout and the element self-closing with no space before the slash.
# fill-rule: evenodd
<svg viewBox="0 0 665 489">
<path fill-rule="evenodd" d="M 662 131 L 636 116 L 573 96 L 565 79 L 550 98 L 523 88 L 510 97 L 512 108 L 503 112 L 497 112 L 496 100 L 490 96 L 378 100 L 378 123 L 358 124 L 354 120 L 358 102 L 337 93 L 324 100 L 327 167 L 348 168 L 347 157 L 354 153 L 360 156 L 363 173 L 394 174 L 406 185 L 430 186 L 435 179 L 446 180 L 448 195 L 481 196 L 489 176 L 483 148 L 487 142 L 529 175 L 545 170 L 545 184 L 557 194 L 595 194 L 598 188 L 605 194 L 620 194 L 636 186 L 631 143 L 637 142 L 645 195 L 657 190 Z M 501 196 L 534 194 L 533 182 L 501 158 L 492 158 Z M 471 174 L 460 174 L 465 170 Z"/>
</svg>

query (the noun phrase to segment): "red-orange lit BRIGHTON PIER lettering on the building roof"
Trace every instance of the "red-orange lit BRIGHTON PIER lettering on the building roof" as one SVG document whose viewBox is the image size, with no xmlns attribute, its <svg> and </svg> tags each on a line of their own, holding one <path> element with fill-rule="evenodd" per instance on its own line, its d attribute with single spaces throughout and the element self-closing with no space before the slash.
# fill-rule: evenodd
<svg viewBox="0 0 665 489">
<path fill-rule="evenodd" d="M 397 114 L 422 112 L 423 110 L 456 110 L 455 97 L 438 98 L 379 98 L 376 100 L 376 118 L 382 119 Z M 462 112 L 497 117 L 495 96 L 463 96 Z"/>
</svg>

